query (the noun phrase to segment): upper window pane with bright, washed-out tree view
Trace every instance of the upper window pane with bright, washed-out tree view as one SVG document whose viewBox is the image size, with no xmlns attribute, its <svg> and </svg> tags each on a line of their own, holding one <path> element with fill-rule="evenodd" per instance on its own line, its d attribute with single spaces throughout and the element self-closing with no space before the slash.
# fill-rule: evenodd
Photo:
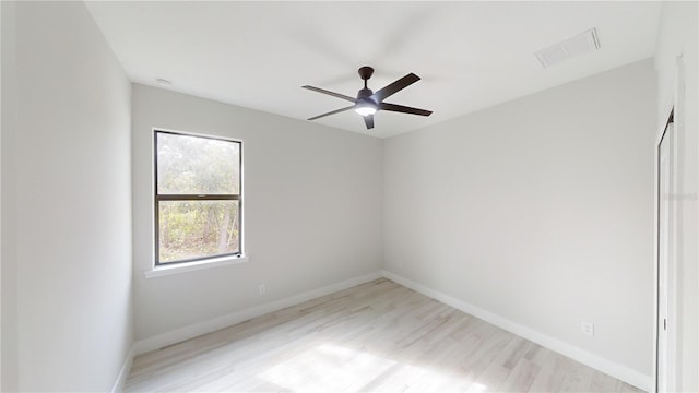
<svg viewBox="0 0 699 393">
<path fill-rule="evenodd" d="M 209 138 L 156 133 L 159 194 L 237 194 L 240 144 Z"/>
</svg>

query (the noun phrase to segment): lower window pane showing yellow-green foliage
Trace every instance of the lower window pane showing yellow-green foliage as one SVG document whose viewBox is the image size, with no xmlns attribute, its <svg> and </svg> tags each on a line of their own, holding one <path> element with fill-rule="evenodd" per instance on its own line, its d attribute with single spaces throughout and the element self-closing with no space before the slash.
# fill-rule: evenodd
<svg viewBox="0 0 699 393">
<path fill-rule="evenodd" d="M 158 261 L 239 252 L 238 201 L 161 201 Z"/>
</svg>

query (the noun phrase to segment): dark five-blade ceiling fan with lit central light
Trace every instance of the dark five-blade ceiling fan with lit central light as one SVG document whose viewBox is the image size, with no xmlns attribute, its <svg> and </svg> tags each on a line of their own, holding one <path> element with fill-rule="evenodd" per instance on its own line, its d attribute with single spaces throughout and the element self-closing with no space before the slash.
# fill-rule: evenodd
<svg viewBox="0 0 699 393">
<path fill-rule="evenodd" d="M 359 69 L 359 76 L 364 80 L 364 88 L 362 88 L 359 93 L 357 93 L 356 98 L 344 95 L 344 94 L 330 92 L 323 88 L 309 86 L 309 85 L 301 86 L 304 88 L 308 88 L 313 92 L 328 94 L 333 97 L 342 98 L 353 103 L 353 105 L 348 107 L 329 111 L 327 114 L 313 116 L 308 120 L 316 120 L 325 116 L 335 115 L 335 114 L 343 112 L 345 110 L 354 109 L 357 114 L 364 117 L 364 123 L 367 126 L 367 130 L 369 130 L 374 128 L 374 114 L 376 114 L 379 110 L 390 110 L 390 111 L 396 111 L 401 114 L 411 114 L 411 115 L 419 115 L 419 116 L 429 116 L 433 114 L 431 110 L 412 108 L 403 105 L 395 105 L 395 104 L 389 104 L 383 102 L 383 99 L 388 98 L 389 96 L 419 81 L 419 76 L 411 72 L 407 75 L 401 78 L 400 80 L 374 93 L 369 87 L 367 87 L 367 81 L 369 80 L 369 78 L 371 78 L 372 74 L 374 74 L 374 69 L 371 67 L 365 66 Z"/>
</svg>

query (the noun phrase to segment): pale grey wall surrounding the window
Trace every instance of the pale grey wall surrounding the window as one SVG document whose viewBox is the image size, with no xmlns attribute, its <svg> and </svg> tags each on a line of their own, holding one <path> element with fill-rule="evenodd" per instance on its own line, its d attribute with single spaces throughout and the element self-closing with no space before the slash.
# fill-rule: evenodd
<svg viewBox="0 0 699 393">
<path fill-rule="evenodd" d="M 153 266 L 153 128 L 244 141 L 250 262 L 144 278 Z M 371 136 L 133 85 L 137 340 L 379 271 L 381 152 Z"/>
</svg>

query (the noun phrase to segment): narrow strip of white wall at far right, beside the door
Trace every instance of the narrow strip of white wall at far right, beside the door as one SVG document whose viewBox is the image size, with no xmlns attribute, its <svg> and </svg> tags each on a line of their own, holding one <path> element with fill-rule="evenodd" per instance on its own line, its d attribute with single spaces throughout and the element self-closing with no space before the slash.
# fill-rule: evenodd
<svg viewBox="0 0 699 393">
<path fill-rule="evenodd" d="M 659 82 L 660 136 L 671 108 L 675 107 L 677 141 L 677 259 L 678 259 L 678 358 L 676 388 L 699 391 L 699 47 L 696 1 L 664 1 L 655 67 Z M 677 57 L 682 56 L 679 60 Z"/>
</svg>

